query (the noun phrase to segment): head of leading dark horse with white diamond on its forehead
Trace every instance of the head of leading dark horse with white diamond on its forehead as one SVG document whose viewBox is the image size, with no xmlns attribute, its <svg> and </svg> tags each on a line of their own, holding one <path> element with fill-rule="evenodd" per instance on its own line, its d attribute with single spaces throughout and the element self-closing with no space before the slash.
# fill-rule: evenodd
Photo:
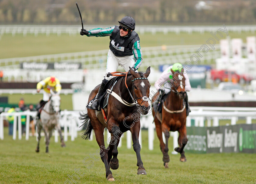
<svg viewBox="0 0 256 184">
<path fill-rule="evenodd" d="M 130 68 L 130 67 L 129 67 Z M 133 76 L 133 98 L 137 101 L 137 106 L 140 106 L 140 112 L 143 115 L 148 114 L 150 105 L 149 100 L 149 88 L 148 75 L 150 74 L 150 66 L 145 73 L 136 73 L 130 68 L 130 73 Z M 136 103 L 136 102 L 135 102 Z"/>
</svg>

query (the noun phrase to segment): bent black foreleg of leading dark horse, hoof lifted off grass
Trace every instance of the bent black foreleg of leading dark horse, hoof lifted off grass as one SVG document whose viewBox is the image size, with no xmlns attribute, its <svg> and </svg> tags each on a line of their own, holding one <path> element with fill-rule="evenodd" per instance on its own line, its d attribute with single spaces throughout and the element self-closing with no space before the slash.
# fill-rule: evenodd
<svg viewBox="0 0 256 184">
<path fill-rule="evenodd" d="M 122 132 L 120 132 L 119 126 L 115 125 L 112 127 L 112 137 L 111 141 L 109 142 L 109 150 L 108 150 L 108 162 L 111 169 L 118 169 L 119 167 L 119 161 L 117 159 L 118 150 L 117 146 L 119 144 L 120 136 L 122 135 Z M 112 150 L 111 150 L 112 149 Z M 112 152 L 112 154 L 110 153 Z M 113 158 L 111 158 L 113 156 Z"/>
</svg>

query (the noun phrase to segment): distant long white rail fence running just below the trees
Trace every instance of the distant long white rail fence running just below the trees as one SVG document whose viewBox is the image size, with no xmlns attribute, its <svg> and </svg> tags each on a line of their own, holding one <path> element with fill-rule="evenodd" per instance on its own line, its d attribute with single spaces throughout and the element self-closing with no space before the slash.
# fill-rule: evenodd
<svg viewBox="0 0 256 184">
<path fill-rule="evenodd" d="M 86 29 L 92 28 L 108 28 L 113 25 L 86 25 Z M 255 25 L 226 25 L 229 31 L 232 32 L 255 32 Z M 216 31 L 219 28 L 218 26 L 210 26 L 210 25 L 194 25 L 194 26 L 157 26 L 157 25 L 144 25 L 144 26 L 136 26 L 136 32 L 140 34 L 151 33 L 156 34 L 158 32 L 168 34 L 176 33 L 180 34 L 181 32 L 186 32 L 192 34 L 193 32 L 199 32 L 203 34 L 204 32 Z M 37 36 L 38 34 L 56 34 L 60 36 L 61 34 L 69 34 L 76 35 L 80 33 L 81 27 L 78 25 L 1 25 L 0 26 L 0 36 L 3 34 L 12 34 L 15 36 L 16 34 L 23 34 L 26 36 L 27 34 L 34 34 Z"/>
</svg>

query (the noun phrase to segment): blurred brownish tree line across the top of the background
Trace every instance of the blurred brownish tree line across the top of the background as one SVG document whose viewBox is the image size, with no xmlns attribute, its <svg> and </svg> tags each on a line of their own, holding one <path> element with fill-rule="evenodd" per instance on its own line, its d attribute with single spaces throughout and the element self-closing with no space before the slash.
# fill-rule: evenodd
<svg viewBox="0 0 256 184">
<path fill-rule="evenodd" d="M 1 24 L 116 24 L 132 16 L 137 24 L 211 24 L 256 22 L 254 0 L 0 0 Z"/>
</svg>

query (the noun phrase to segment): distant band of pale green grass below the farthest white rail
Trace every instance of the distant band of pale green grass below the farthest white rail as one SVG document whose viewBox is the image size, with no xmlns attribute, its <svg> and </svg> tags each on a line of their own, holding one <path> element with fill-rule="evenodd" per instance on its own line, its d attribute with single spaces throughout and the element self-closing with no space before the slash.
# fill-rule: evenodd
<svg viewBox="0 0 256 184">
<path fill-rule="evenodd" d="M 223 28 L 223 26 L 216 26 L 216 31 L 218 31 L 218 28 Z M 228 29 L 228 26 L 226 28 Z M 226 33 L 224 34 L 222 39 L 226 38 Z M 229 32 L 229 37 L 231 39 L 242 38 L 243 42 L 246 42 L 247 36 L 254 35 L 255 33 L 252 32 Z M 166 35 L 163 33 L 145 33 L 139 34 L 139 36 L 142 51 L 143 47 L 161 45 L 203 45 L 206 43 L 208 38 L 212 37 L 209 32 L 204 32 L 202 34 L 198 32 L 193 32 L 191 34 L 181 32 L 180 34 L 168 33 Z M 15 36 L 12 36 L 11 34 L 3 34 L 0 39 L 0 59 L 67 52 L 94 51 L 108 49 L 108 46 L 108 36 L 101 38 L 88 38 L 87 36 L 81 36 L 79 34 L 70 36 L 68 34 L 62 34 L 60 36 L 57 36 L 56 34 L 50 34 L 49 36 L 39 34 L 35 37 L 33 34 L 28 34 L 23 37 L 23 34 L 16 34 Z"/>
</svg>

